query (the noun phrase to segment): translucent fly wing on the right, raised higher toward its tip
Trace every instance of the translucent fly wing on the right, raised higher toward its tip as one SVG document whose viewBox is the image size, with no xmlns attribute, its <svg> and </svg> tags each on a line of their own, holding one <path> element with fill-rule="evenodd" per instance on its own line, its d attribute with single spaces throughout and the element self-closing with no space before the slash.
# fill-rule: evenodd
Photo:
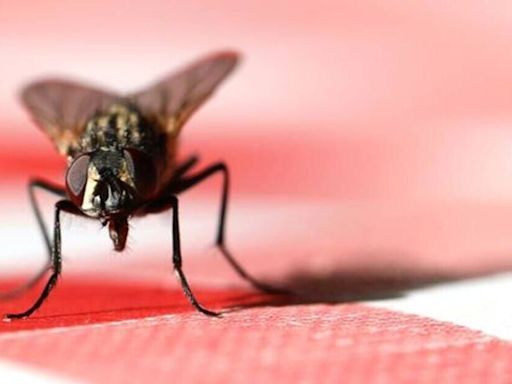
<svg viewBox="0 0 512 384">
<path fill-rule="evenodd" d="M 175 136 L 235 68 L 237 61 L 235 52 L 212 54 L 129 98 L 171 137 Z"/>
</svg>

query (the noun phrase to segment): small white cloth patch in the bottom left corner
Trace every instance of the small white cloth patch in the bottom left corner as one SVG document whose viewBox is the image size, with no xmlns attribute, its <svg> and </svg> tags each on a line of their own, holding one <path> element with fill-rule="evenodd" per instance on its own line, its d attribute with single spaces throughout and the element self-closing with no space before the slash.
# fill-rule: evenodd
<svg viewBox="0 0 512 384">
<path fill-rule="evenodd" d="M 79 380 L 64 379 L 60 376 L 41 372 L 32 366 L 0 360 L 0 381 L 2 383 L 31 383 L 31 384 L 71 384 L 83 383 Z"/>
</svg>

